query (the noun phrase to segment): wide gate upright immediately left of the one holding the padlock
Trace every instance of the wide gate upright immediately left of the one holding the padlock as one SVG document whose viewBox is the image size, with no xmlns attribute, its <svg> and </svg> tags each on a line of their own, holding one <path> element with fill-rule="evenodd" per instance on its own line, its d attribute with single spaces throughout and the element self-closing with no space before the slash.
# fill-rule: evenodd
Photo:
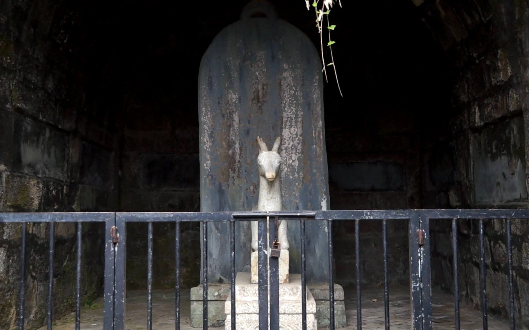
<svg viewBox="0 0 529 330">
<path fill-rule="evenodd" d="M 268 329 L 267 218 L 258 220 L 259 329 Z"/>
</svg>

